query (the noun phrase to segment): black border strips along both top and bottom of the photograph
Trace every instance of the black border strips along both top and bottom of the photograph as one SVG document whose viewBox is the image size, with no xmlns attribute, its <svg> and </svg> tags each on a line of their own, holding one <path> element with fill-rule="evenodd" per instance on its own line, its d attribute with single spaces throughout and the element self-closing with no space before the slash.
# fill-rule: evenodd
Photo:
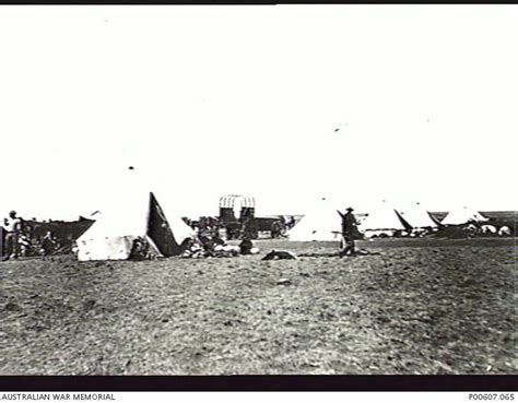
<svg viewBox="0 0 518 403">
<path fill-rule="evenodd" d="M 264 0 L 0 0 L 0 5 L 275 5 L 275 4 L 407 4 L 381 1 L 264 1 Z M 434 4 L 410 2 L 408 4 Z M 435 4 L 463 4 L 444 2 Z M 513 1 L 471 2 L 474 4 L 518 4 Z M 516 375 L 455 376 L 0 376 L 0 391 L 98 391 L 98 392 L 179 392 L 179 391 L 349 391 L 349 392 L 515 392 Z"/>
</svg>

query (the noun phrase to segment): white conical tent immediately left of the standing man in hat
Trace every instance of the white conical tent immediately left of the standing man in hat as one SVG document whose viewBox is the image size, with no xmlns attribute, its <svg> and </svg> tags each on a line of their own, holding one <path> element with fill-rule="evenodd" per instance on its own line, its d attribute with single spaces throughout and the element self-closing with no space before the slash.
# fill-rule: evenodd
<svg viewBox="0 0 518 403">
<path fill-rule="evenodd" d="M 340 240 L 341 218 L 326 199 L 317 202 L 289 233 L 290 240 Z"/>
</svg>

